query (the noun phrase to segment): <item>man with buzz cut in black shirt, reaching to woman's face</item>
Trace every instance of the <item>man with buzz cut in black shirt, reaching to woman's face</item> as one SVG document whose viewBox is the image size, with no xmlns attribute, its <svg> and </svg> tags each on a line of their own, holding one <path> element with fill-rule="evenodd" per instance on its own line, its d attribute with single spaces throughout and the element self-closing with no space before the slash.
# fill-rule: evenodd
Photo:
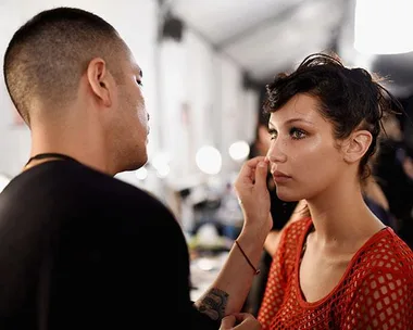
<svg viewBox="0 0 413 330">
<path fill-rule="evenodd" d="M 263 157 L 237 181 L 243 207 L 260 212 L 245 211 L 238 245 L 192 303 L 178 223 L 113 178 L 147 162 L 149 132 L 142 72 L 116 30 L 78 9 L 43 11 L 14 34 L 3 72 L 32 157 L 0 195 L 0 329 L 217 329 L 223 319 L 259 329 L 236 313 L 272 226 Z"/>
</svg>

